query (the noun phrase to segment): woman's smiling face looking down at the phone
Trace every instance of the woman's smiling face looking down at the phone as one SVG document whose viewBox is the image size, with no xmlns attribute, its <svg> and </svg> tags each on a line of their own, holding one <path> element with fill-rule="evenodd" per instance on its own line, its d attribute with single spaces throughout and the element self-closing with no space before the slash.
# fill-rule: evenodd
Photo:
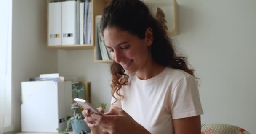
<svg viewBox="0 0 256 134">
<path fill-rule="evenodd" d="M 147 31 L 144 39 L 116 27 L 107 27 L 103 32 L 112 59 L 120 64 L 128 74 L 143 70 L 147 62 L 151 60 L 149 46 L 152 40 L 148 39 Z"/>
</svg>

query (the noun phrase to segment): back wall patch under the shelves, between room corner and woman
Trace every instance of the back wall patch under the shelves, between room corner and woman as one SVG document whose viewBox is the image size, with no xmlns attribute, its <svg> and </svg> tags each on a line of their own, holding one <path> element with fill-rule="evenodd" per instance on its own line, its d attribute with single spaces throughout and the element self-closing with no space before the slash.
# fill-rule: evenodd
<svg viewBox="0 0 256 134">
<path fill-rule="evenodd" d="M 99 107 L 111 101 L 110 64 L 94 62 L 93 50 L 58 50 L 58 72 L 69 80 L 74 76 L 78 81 L 91 82 L 91 103 Z"/>
</svg>

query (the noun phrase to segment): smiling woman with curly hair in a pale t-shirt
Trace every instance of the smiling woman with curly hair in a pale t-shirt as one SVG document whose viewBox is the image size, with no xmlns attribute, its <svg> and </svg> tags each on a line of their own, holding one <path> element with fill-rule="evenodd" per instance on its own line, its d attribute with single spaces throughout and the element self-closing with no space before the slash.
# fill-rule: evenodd
<svg viewBox="0 0 256 134">
<path fill-rule="evenodd" d="M 195 70 L 177 56 L 149 8 L 140 0 L 112 0 L 101 32 L 113 59 L 112 105 L 104 115 L 83 111 L 92 133 L 200 134 Z"/>
</svg>

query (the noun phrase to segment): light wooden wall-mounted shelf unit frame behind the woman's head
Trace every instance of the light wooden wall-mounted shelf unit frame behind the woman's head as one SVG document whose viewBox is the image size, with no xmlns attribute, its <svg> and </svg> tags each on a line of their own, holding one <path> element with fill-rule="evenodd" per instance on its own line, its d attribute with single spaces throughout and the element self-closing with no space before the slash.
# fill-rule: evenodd
<svg viewBox="0 0 256 134">
<path fill-rule="evenodd" d="M 49 2 L 57 2 L 57 1 L 67 1 L 67 0 L 47 0 Z M 177 35 L 178 34 L 178 4 L 176 0 L 143 0 L 146 5 L 149 6 L 149 10 L 155 15 L 152 9 L 156 9 L 159 7 L 165 13 L 165 18 L 167 20 L 168 25 L 168 33 L 170 35 Z M 95 62 L 104 62 L 110 63 L 112 60 L 98 60 L 96 59 L 96 49 L 95 49 L 95 17 L 97 15 L 101 15 L 103 10 L 107 5 L 111 2 L 111 0 L 92 0 L 92 44 L 76 44 L 76 45 L 69 45 L 69 46 L 47 46 L 48 48 L 53 49 L 64 49 L 64 50 L 79 50 L 79 49 L 94 49 L 94 61 Z M 48 7 L 47 4 L 47 44 L 48 44 Z"/>
</svg>

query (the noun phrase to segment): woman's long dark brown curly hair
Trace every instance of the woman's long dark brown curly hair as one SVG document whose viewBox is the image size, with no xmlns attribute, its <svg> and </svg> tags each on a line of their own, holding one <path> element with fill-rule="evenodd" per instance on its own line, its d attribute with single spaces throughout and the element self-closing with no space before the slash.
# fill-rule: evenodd
<svg viewBox="0 0 256 134">
<path fill-rule="evenodd" d="M 152 16 L 147 5 L 140 0 L 112 0 L 104 9 L 101 18 L 101 31 L 108 26 L 120 28 L 123 31 L 138 36 L 140 39 L 145 38 L 147 28 L 152 29 L 154 41 L 151 47 L 152 60 L 165 67 L 184 70 L 194 75 L 193 69 L 189 69 L 187 58 L 181 57 L 174 51 L 171 38 L 163 26 Z M 128 85 L 128 75 L 120 64 L 115 61 L 111 65 L 112 74 L 112 96 L 117 101 L 114 93 L 123 99 L 120 89 L 123 85 Z"/>
</svg>

